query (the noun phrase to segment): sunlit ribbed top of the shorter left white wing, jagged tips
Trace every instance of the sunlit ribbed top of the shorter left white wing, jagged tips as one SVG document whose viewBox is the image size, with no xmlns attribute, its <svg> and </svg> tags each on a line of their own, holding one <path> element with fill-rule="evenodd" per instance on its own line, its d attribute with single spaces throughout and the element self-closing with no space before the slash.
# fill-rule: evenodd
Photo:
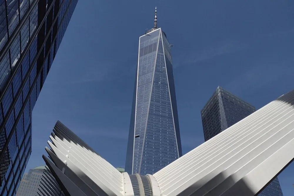
<svg viewBox="0 0 294 196">
<path fill-rule="evenodd" d="M 70 131 L 66 126 L 57 122 L 52 141 L 48 144 L 56 156 L 80 178 L 88 176 L 108 195 L 123 195 L 123 176 L 105 159 L 95 153 L 86 143 Z"/>
</svg>

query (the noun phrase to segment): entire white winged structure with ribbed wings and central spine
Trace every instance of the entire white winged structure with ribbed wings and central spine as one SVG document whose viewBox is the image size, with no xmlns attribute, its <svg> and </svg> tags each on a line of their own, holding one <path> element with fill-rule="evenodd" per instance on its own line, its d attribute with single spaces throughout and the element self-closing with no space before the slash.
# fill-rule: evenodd
<svg viewBox="0 0 294 196">
<path fill-rule="evenodd" d="M 253 196 L 293 161 L 293 105 L 291 91 L 153 175 L 120 173 L 59 121 L 43 158 L 71 196 Z"/>
</svg>

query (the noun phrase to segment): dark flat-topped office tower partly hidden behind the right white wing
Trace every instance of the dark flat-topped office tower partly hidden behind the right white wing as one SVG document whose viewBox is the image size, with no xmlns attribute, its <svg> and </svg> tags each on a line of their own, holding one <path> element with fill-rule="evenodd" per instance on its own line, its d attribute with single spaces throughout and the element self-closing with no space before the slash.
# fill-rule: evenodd
<svg viewBox="0 0 294 196">
<path fill-rule="evenodd" d="M 255 110 L 251 104 L 218 87 L 201 110 L 204 140 L 213 138 Z M 259 196 L 283 196 L 278 177 Z"/>
</svg>

